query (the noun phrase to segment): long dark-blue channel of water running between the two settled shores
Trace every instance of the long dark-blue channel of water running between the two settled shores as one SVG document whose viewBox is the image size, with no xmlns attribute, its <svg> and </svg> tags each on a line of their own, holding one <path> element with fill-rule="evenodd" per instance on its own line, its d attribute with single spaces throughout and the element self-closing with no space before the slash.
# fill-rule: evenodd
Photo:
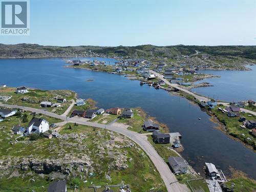
<svg viewBox="0 0 256 192">
<path fill-rule="evenodd" d="M 122 75 L 65 68 L 65 65 L 60 58 L 1 59 L 0 84 L 73 90 L 81 98 L 93 98 L 105 109 L 141 106 L 148 115 L 167 124 L 170 131 L 181 133 L 185 148 L 182 156 L 197 172 L 202 173 L 204 162 L 212 162 L 227 175 L 232 166 L 256 178 L 256 154 L 215 129 L 217 124 L 199 106 L 164 90 L 140 86 L 138 81 Z"/>
</svg>

